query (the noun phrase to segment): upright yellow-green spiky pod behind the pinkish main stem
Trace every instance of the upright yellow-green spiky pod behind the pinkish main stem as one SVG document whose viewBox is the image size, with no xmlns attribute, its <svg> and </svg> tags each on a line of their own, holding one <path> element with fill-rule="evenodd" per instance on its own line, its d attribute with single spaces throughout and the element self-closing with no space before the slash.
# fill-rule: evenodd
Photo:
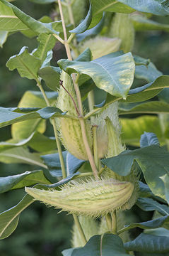
<svg viewBox="0 0 169 256">
<path fill-rule="evenodd" d="M 74 98 L 74 102 L 77 105 L 76 93 L 74 91 L 74 85 L 71 76 L 62 71 L 60 79 L 63 81 L 63 85 L 66 90 Z M 67 114 L 77 117 L 74 102 L 71 100 L 69 94 L 63 87 L 59 89 L 59 96 L 57 99 L 57 107 L 63 112 L 67 111 Z M 64 147 L 78 159 L 88 160 L 86 149 L 83 144 L 83 137 L 81 133 L 81 124 L 78 119 L 70 118 L 57 118 L 57 129 L 59 131 L 59 137 Z M 86 133 L 88 137 L 89 145 L 93 146 L 91 124 L 86 121 Z"/>
</svg>

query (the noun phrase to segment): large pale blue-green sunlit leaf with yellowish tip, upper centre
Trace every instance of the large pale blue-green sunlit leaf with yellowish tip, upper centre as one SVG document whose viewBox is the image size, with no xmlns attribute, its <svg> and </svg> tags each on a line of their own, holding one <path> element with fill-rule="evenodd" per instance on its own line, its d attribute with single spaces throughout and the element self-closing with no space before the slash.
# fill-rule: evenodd
<svg viewBox="0 0 169 256">
<path fill-rule="evenodd" d="M 111 95 L 126 97 L 134 79 L 134 60 L 131 53 L 110 53 L 90 62 L 59 60 L 67 73 L 89 75 L 95 85 Z"/>
</svg>

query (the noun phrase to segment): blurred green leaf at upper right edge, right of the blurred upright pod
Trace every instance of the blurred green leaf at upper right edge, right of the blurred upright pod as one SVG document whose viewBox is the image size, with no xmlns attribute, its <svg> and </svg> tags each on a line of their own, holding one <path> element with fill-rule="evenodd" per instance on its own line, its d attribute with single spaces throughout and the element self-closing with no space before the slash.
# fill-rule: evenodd
<svg viewBox="0 0 169 256">
<path fill-rule="evenodd" d="M 163 24 L 163 23 L 158 23 L 156 21 L 152 21 L 140 14 L 133 14 L 131 16 L 131 18 L 132 18 L 132 22 L 134 23 L 134 28 L 136 31 L 156 30 L 156 31 L 169 32 L 168 24 Z"/>
</svg>

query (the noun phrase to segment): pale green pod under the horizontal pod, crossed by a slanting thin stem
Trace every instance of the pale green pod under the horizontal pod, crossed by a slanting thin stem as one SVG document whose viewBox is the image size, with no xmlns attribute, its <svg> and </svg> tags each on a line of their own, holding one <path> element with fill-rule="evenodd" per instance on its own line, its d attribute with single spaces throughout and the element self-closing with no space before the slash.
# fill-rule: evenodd
<svg viewBox="0 0 169 256">
<path fill-rule="evenodd" d="M 96 220 L 86 216 L 79 216 L 78 220 L 81 223 L 81 228 L 86 236 L 86 240 L 88 241 L 93 235 L 98 235 L 98 223 Z M 77 226 L 74 224 L 72 230 L 72 247 L 82 247 L 84 246 L 83 240 L 81 240 L 81 235 L 78 232 Z"/>
</svg>

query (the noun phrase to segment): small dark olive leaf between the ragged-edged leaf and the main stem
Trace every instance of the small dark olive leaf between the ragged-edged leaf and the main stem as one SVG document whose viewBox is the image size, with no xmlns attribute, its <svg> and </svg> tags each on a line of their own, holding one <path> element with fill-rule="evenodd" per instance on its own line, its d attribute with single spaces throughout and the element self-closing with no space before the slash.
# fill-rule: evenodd
<svg viewBox="0 0 169 256">
<path fill-rule="evenodd" d="M 41 68 L 39 70 L 38 75 L 40 75 L 40 78 L 45 80 L 47 87 L 54 91 L 58 90 L 60 80 L 59 68 L 46 66 L 45 68 Z"/>
</svg>

